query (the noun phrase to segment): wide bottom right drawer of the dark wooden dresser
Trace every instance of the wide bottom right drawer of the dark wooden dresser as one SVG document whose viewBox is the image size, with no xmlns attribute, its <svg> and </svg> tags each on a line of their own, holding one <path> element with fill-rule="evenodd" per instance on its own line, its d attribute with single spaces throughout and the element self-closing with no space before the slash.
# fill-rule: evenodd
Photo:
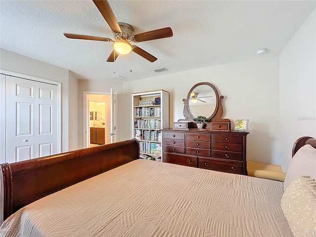
<svg viewBox="0 0 316 237">
<path fill-rule="evenodd" d="M 234 161 L 198 158 L 198 167 L 233 174 L 242 174 L 242 163 Z"/>
</svg>

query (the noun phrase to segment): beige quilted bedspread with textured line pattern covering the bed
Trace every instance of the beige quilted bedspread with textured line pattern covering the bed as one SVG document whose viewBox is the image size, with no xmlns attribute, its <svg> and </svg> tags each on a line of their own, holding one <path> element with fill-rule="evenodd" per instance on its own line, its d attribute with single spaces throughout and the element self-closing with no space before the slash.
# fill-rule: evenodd
<svg viewBox="0 0 316 237">
<path fill-rule="evenodd" d="M 291 237 L 278 181 L 139 159 L 27 205 L 0 236 Z"/>
</svg>

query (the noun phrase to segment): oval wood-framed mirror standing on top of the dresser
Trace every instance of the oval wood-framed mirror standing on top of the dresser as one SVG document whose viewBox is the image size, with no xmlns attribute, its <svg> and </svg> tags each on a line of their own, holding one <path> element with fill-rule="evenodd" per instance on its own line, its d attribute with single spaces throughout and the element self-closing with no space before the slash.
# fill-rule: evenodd
<svg viewBox="0 0 316 237">
<path fill-rule="evenodd" d="M 188 93 L 186 106 L 192 119 L 197 118 L 197 116 L 212 119 L 216 115 L 218 105 L 218 92 L 211 83 L 197 83 Z"/>
</svg>

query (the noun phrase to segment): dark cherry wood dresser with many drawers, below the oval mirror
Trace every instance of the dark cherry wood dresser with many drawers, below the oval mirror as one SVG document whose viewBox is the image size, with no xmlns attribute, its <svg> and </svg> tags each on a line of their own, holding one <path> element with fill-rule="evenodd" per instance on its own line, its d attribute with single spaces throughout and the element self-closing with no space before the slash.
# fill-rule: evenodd
<svg viewBox="0 0 316 237">
<path fill-rule="evenodd" d="M 162 161 L 247 175 L 247 134 L 195 128 L 163 129 Z"/>
</svg>

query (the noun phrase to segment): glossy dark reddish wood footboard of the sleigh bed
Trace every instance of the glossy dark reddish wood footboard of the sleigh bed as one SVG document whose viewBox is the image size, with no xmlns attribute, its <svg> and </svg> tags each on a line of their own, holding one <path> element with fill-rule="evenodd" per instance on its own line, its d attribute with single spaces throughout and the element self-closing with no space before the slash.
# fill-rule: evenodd
<svg viewBox="0 0 316 237">
<path fill-rule="evenodd" d="M 139 158 L 136 139 L 0 164 L 0 223 L 42 197 Z"/>
</svg>

